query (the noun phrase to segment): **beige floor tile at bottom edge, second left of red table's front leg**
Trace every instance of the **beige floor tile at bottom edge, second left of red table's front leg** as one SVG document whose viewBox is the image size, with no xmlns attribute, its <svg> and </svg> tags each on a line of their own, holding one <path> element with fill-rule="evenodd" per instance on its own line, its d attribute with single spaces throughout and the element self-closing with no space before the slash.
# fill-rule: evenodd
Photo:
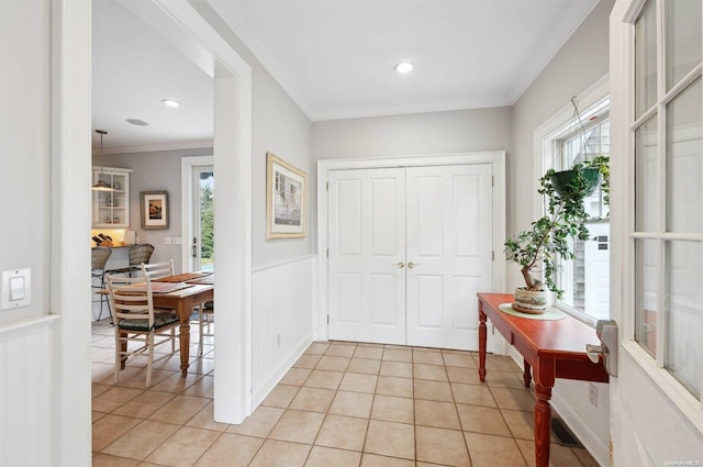
<svg viewBox="0 0 703 467">
<path fill-rule="evenodd" d="M 417 437 L 417 460 L 456 467 L 471 465 L 460 431 L 417 426 L 415 436 Z"/>
</svg>

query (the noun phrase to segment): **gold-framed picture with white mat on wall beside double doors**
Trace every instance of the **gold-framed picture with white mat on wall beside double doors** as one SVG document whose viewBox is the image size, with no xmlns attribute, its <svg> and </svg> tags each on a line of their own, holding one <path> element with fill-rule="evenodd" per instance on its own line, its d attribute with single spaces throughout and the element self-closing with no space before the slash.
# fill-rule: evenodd
<svg viewBox="0 0 703 467">
<path fill-rule="evenodd" d="M 305 236 L 308 175 L 266 153 L 266 238 Z"/>
</svg>

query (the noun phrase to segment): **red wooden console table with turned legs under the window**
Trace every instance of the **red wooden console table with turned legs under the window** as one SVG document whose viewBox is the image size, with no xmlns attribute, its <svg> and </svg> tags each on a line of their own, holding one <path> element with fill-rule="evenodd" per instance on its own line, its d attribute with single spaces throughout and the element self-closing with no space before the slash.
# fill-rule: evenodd
<svg viewBox="0 0 703 467">
<path fill-rule="evenodd" d="M 499 305 L 512 303 L 509 293 L 478 293 L 479 298 L 479 378 L 486 380 L 486 319 L 500 331 L 524 358 L 525 387 L 535 380 L 535 460 L 549 465 L 551 430 L 551 388 L 557 378 L 607 382 L 602 362 L 594 364 L 585 354 L 585 344 L 600 344 L 595 330 L 567 315 L 561 320 L 531 320 L 503 313 Z M 532 375 L 531 375 L 532 368 Z"/>
</svg>

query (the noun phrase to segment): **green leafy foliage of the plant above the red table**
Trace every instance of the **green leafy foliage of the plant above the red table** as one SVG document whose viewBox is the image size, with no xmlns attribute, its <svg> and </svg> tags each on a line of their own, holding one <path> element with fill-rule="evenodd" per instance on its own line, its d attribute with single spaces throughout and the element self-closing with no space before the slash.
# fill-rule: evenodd
<svg viewBox="0 0 703 467">
<path fill-rule="evenodd" d="M 603 160 L 600 164 L 603 165 Z M 604 164 L 607 166 L 607 160 Z M 520 232 L 504 244 L 507 259 L 521 266 L 527 290 L 544 290 L 546 286 L 558 298 L 563 296 L 563 290 L 555 282 L 557 258 L 572 259 L 574 255 L 569 240 L 573 237 L 584 241 L 589 237 L 589 231 L 584 225 L 589 214 L 583 208 L 589 180 L 581 173 L 583 167 L 583 164 L 573 167 L 574 176 L 568 182 L 567 189 L 562 190 L 562 194 L 555 189 L 553 176 L 556 171 L 547 170 L 539 179 L 537 190 L 545 202 L 545 215 L 532 223 L 532 230 Z M 540 273 L 544 273 L 544 283 Z"/>
</svg>

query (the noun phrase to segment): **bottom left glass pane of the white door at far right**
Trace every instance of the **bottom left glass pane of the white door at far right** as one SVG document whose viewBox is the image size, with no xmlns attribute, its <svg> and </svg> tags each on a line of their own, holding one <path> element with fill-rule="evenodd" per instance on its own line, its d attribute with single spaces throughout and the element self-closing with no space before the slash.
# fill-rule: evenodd
<svg viewBox="0 0 703 467">
<path fill-rule="evenodd" d="M 657 241 L 635 241 L 635 341 L 654 357 L 659 323 L 657 290 Z"/>
</svg>

